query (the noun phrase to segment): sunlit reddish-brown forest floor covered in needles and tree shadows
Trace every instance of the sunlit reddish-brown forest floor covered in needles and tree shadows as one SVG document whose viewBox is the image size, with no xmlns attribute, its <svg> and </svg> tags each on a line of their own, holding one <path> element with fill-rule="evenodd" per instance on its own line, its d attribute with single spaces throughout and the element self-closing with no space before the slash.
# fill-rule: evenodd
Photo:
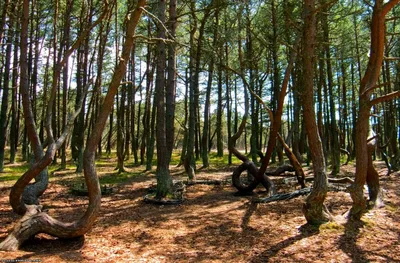
<svg viewBox="0 0 400 263">
<path fill-rule="evenodd" d="M 146 204 L 143 196 L 155 176 L 128 167 L 125 176 L 133 176 L 102 197 L 100 216 L 84 237 L 39 234 L 16 252 L 0 252 L 0 262 L 400 262 L 400 173 L 386 176 L 384 165 L 376 166 L 385 206 L 350 222 L 343 217 L 351 207 L 349 194 L 329 192 L 326 205 L 335 221 L 319 227 L 306 224 L 304 196 L 253 203 L 265 196 L 262 188 L 237 196 L 230 184 L 197 184 L 187 187 L 181 205 Z M 200 170 L 198 179 L 227 180 L 234 167 Z M 175 180 L 186 180 L 182 169 L 171 166 Z M 117 176 L 110 165 L 99 165 L 99 175 Z M 341 175 L 354 175 L 354 166 L 342 166 Z M 42 198 L 50 215 L 72 221 L 85 211 L 87 199 L 70 193 L 77 176 L 72 169 L 52 175 Z M 284 178 L 273 178 L 278 192 L 299 189 Z M 8 204 L 13 182 L 0 184 L 0 241 L 18 219 Z"/>
</svg>

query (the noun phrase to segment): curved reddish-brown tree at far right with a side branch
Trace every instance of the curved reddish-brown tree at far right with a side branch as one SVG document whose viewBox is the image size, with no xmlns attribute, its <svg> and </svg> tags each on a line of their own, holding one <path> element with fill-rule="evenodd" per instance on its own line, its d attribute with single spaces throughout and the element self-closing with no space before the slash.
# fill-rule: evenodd
<svg viewBox="0 0 400 263">
<path fill-rule="evenodd" d="M 350 188 L 350 195 L 353 199 L 353 206 L 350 210 L 350 218 L 360 219 L 364 213 L 367 203 L 364 198 L 363 188 L 365 183 L 368 184 L 370 201 L 374 205 L 379 195 L 379 176 L 372 165 L 368 161 L 368 133 L 369 133 L 369 117 L 371 107 L 395 97 L 400 96 L 400 91 L 395 91 L 380 97 L 371 98 L 375 89 L 381 67 L 383 63 L 383 55 L 385 49 L 385 34 L 386 34 L 386 15 L 389 11 L 400 2 L 400 0 L 391 0 L 384 4 L 383 0 L 375 1 L 373 6 L 371 19 L 371 46 L 368 65 L 364 76 L 360 82 L 359 89 L 359 110 L 356 123 L 356 178 Z M 371 143 L 370 143 L 371 144 Z"/>
</svg>

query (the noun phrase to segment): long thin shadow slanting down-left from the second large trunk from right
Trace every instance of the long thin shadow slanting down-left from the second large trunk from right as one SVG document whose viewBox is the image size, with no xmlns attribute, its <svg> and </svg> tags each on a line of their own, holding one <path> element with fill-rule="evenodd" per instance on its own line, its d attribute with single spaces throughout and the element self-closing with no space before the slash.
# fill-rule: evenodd
<svg viewBox="0 0 400 263">
<path fill-rule="evenodd" d="M 319 226 L 318 225 L 310 225 L 305 224 L 299 228 L 299 234 L 296 236 L 290 237 L 288 239 L 282 240 L 281 242 L 269 247 L 263 252 L 255 255 L 249 262 L 268 262 L 270 258 L 274 257 L 279 253 L 279 251 L 293 245 L 294 243 L 304 239 L 311 237 L 313 235 L 319 234 Z"/>
</svg>

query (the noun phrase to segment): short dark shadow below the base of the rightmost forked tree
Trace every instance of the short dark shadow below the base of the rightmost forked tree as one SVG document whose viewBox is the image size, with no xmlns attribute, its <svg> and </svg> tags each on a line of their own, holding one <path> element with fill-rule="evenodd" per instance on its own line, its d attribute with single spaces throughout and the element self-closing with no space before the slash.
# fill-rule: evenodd
<svg viewBox="0 0 400 263">
<path fill-rule="evenodd" d="M 352 262 L 370 262 L 366 253 L 357 245 L 357 236 L 365 223 L 363 221 L 348 220 L 344 225 L 344 234 L 338 240 L 339 248 L 346 253 Z"/>
</svg>

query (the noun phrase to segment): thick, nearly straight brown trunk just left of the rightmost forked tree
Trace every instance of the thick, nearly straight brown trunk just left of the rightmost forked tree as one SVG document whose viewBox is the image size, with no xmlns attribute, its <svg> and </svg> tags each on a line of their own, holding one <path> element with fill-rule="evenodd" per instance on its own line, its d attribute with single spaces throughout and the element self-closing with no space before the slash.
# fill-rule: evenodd
<svg viewBox="0 0 400 263">
<path fill-rule="evenodd" d="M 328 221 L 330 215 L 324 206 L 328 191 L 328 178 L 325 168 L 325 158 L 321 138 L 314 110 L 314 63 L 315 63 L 315 0 L 304 0 L 304 28 L 303 28 L 303 73 L 304 87 L 302 90 L 302 103 L 304 122 L 307 130 L 308 145 L 313 162 L 314 183 L 313 190 L 307 196 L 303 206 L 303 213 L 307 222 L 318 224 Z"/>
</svg>

